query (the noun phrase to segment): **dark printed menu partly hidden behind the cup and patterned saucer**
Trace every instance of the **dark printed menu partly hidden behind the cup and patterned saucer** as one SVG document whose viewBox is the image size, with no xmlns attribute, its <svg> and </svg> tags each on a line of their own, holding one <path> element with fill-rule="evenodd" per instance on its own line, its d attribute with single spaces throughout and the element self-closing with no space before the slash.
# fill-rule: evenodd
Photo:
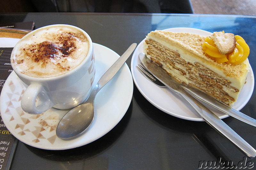
<svg viewBox="0 0 256 170">
<path fill-rule="evenodd" d="M 10 73 L 12 66 L 10 57 L 14 45 L 24 35 L 29 33 L 34 26 L 34 22 L 0 24 L 0 92 Z M 31 28 L 29 30 L 29 28 Z M 18 139 L 5 127 L 0 113 L 0 170 L 9 169 Z"/>
</svg>

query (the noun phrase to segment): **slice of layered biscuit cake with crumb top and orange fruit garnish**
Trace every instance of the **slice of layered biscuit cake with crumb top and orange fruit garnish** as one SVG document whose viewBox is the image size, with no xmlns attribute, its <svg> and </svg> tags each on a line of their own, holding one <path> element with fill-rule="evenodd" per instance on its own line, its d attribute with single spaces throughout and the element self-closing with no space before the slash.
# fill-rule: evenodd
<svg viewBox="0 0 256 170">
<path fill-rule="evenodd" d="M 234 34 L 211 36 L 152 31 L 144 42 L 144 53 L 178 82 L 196 87 L 233 105 L 249 70 L 249 47 Z"/>
</svg>

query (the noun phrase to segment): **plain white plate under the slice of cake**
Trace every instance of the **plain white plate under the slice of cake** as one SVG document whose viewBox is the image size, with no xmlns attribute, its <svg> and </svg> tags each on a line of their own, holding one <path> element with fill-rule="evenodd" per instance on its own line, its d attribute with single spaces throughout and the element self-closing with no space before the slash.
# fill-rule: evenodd
<svg viewBox="0 0 256 170">
<path fill-rule="evenodd" d="M 212 33 L 199 30 L 195 28 L 169 28 L 166 31 L 172 32 L 187 32 L 187 33 L 196 33 L 200 35 L 211 35 Z M 193 109 L 191 109 L 183 100 L 176 97 L 172 92 L 169 91 L 166 87 L 158 87 L 145 78 L 139 70 L 136 68 L 136 65 L 140 63 L 139 54 L 143 52 L 143 42 L 141 41 L 140 44 L 135 49 L 132 55 L 131 61 L 131 71 L 132 77 L 134 80 L 135 85 L 141 92 L 141 94 L 155 107 L 159 108 L 160 110 L 164 111 L 169 115 L 173 115 L 175 117 L 179 117 L 181 119 L 191 120 L 191 121 L 204 121 Z M 242 89 L 238 100 L 234 103 L 233 108 L 240 110 L 242 109 L 246 103 L 250 100 L 253 92 L 254 87 L 254 76 L 252 72 L 252 68 L 250 66 L 250 71 L 247 76 L 246 84 Z M 220 119 L 228 117 L 225 114 L 218 114 Z"/>
</svg>

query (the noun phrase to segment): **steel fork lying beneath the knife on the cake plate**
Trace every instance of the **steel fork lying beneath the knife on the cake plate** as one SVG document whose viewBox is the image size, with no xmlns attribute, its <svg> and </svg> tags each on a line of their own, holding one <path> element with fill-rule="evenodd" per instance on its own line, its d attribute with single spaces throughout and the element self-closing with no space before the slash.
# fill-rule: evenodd
<svg viewBox="0 0 256 170">
<path fill-rule="evenodd" d="M 166 87 L 160 80 L 158 80 L 141 62 L 136 66 L 137 69 L 144 75 L 148 80 L 153 82 L 159 87 Z M 214 109 L 217 111 L 220 111 L 224 114 L 230 115 L 242 122 L 245 122 L 249 125 L 252 125 L 256 127 L 256 120 L 252 117 L 245 115 L 242 112 L 239 112 L 238 110 L 222 103 L 221 101 L 213 98 L 209 94 L 199 90 L 195 89 L 191 86 L 179 83 L 186 92 L 188 92 L 191 96 L 196 98 L 200 103 L 208 107 L 209 109 Z M 199 97 L 200 96 L 200 97 Z M 203 97 L 203 98 L 202 98 Z"/>
</svg>

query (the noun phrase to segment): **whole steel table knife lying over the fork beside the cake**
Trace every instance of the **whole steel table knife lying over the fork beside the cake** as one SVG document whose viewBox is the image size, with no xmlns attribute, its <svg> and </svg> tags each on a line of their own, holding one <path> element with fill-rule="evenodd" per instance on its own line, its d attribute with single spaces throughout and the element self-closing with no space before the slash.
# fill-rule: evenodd
<svg viewBox="0 0 256 170">
<path fill-rule="evenodd" d="M 140 54 L 141 55 L 141 54 Z M 144 55 L 144 54 L 143 54 Z M 240 137 L 233 129 L 231 129 L 225 122 L 223 122 L 218 116 L 216 116 L 210 109 L 205 107 L 202 103 L 192 97 L 183 87 L 179 85 L 171 76 L 166 74 L 165 70 L 149 60 L 145 55 L 140 56 L 141 63 L 164 85 L 166 85 L 172 92 L 180 96 L 195 111 L 217 130 L 222 136 L 233 143 L 238 149 L 244 152 L 248 157 L 254 158 L 256 156 L 256 150 L 248 144 L 242 137 Z"/>
</svg>

